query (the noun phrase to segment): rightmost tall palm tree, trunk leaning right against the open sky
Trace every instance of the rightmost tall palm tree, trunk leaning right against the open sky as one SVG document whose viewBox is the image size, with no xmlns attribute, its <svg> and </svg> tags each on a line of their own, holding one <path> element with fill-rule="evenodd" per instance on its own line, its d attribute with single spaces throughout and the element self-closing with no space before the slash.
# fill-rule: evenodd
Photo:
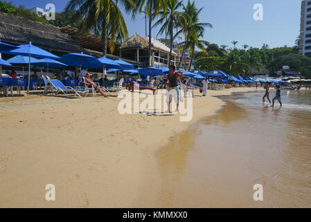
<svg viewBox="0 0 311 222">
<path fill-rule="evenodd" d="M 187 6 L 183 5 L 183 8 L 184 12 L 181 12 L 181 16 L 179 16 L 179 26 L 181 29 L 176 33 L 175 37 L 177 37 L 180 33 L 184 33 L 186 42 L 181 53 L 181 58 L 179 58 L 178 67 L 181 66 L 185 50 L 188 48 L 188 42 L 192 31 L 195 30 L 199 33 L 204 33 L 206 26 L 210 28 L 212 27 L 210 23 L 199 23 L 199 13 L 203 10 L 203 8 L 198 10 L 194 1 L 193 3 L 190 3 L 190 0 L 188 0 Z"/>
</svg>

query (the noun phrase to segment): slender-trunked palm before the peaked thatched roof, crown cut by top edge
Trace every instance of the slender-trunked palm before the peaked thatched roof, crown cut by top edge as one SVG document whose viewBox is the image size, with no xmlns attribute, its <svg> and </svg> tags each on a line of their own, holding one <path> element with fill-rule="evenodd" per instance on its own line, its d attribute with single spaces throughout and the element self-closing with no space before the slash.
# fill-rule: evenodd
<svg viewBox="0 0 311 222">
<path fill-rule="evenodd" d="M 151 31 L 152 31 L 152 18 L 156 17 L 159 10 L 166 10 L 167 1 L 166 0 L 132 0 L 134 5 L 139 7 L 139 12 L 143 11 L 145 8 L 147 14 L 149 15 L 149 58 L 151 58 Z M 149 59 L 149 65 L 151 66 L 151 59 Z"/>
</svg>

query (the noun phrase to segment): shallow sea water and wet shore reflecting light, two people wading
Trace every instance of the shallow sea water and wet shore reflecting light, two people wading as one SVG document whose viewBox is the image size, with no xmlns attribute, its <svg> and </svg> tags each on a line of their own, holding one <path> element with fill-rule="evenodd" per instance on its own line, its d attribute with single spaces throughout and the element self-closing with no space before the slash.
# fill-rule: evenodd
<svg viewBox="0 0 311 222">
<path fill-rule="evenodd" d="M 172 138 L 158 153 L 163 205 L 311 207 L 311 92 L 281 95 L 282 108 L 263 92 L 220 96 L 214 116 Z"/>
</svg>

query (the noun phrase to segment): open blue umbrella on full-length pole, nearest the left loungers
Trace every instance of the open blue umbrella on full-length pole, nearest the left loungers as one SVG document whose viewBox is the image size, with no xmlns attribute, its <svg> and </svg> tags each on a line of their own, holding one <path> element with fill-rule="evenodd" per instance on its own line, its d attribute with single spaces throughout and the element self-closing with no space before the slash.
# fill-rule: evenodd
<svg viewBox="0 0 311 222">
<path fill-rule="evenodd" d="M 28 62 L 28 89 L 27 92 L 29 94 L 29 86 L 30 86 L 30 58 L 31 56 L 37 57 L 37 58 L 52 58 L 57 59 L 58 56 L 55 56 L 54 54 L 45 51 L 44 49 L 40 49 L 37 46 L 34 46 L 29 42 L 29 44 L 21 44 L 18 46 L 17 49 L 12 49 L 10 51 L 6 51 L 7 54 L 11 55 L 19 55 L 19 56 L 28 56 L 29 62 Z"/>
</svg>

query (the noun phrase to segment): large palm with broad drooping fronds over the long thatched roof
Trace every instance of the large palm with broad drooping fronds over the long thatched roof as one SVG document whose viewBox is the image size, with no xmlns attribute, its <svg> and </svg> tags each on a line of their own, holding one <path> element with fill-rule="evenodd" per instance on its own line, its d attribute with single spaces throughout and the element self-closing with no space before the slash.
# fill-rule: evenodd
<svg viewBox="0 0 311 222">
<path fill-rule="evenodd" d="M 73 20 L 83 19 L 80 31 L 102 37 L 103 56 L 107 56 L 107 36 L 112 42 L 127 38 L 127 27 L 118 2 L 124 6 L 126 12 L 136 12 L 134 2 L 127 0 L 70 0 L 65 8 L 67 12 L 73 12 Z M 112 42 L 110 46 L 113 45 Z"/>
</svg>

